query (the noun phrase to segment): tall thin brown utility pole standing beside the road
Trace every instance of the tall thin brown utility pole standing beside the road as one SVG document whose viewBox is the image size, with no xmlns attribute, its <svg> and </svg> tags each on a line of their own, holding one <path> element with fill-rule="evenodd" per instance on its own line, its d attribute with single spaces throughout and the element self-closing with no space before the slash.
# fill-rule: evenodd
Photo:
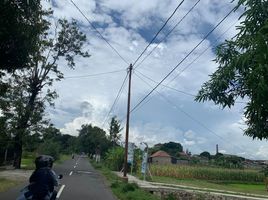
<svg viewBox="0 0 268 200">
<path fill-rule="evenodd" d="M 127 102 L 127 122 L 126 122 L 126 139 L 125 139 L 125 159 L 124 159 L 124 176 L 127 180 L 127 154 L 128 154 L 128 132 L 129 132 L 129 114 L 130 114 L 130 94 L 131 94 L 131 73 L 132 73 L 132 64 L 129 66 L 129 80 L 128 80 L 128 102 Z"/>
</svg>

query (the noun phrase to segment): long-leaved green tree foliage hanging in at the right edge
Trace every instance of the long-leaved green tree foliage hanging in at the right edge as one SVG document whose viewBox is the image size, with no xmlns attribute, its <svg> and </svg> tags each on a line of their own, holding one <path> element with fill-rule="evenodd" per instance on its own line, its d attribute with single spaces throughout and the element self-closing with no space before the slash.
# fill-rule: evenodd
<svg viewBox="0 0 268 200">
<path fill-rule="evenodd" d="M 239 97 L 248 100 L 245 134 L 262 140 L 268 138 L 268 1 L 239 0 L 240 6 L 245 11 L 238 34 L 217 47 L 219 67 L 196 100 L 212 100 L 223 108 Z"/>
</svg>

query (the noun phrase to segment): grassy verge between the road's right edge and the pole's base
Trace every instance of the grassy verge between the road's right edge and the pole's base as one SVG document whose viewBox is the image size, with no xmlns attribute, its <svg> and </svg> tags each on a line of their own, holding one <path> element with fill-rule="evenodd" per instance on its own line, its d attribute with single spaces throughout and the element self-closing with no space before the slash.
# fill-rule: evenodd
<svg viewBox="0 0 268 200">
<path fill-rule="evenodd" d="M 126 183 L 102 164 L 90 161 L 96 170 L 107 179 L 113 194 L 120 200 L 158 200 L 159 198 L 146 192 L 134 183 Z"/>
</svg>

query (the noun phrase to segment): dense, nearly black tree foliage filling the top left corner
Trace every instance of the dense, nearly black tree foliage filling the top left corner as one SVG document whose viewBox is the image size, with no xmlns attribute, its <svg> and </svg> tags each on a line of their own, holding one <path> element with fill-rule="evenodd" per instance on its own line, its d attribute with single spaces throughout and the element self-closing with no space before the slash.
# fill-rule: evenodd
<svg viewBox="0 0 268 200">
<path fill-rule="evenodd" d="M 42 32 L 40 0 L 0 1 L 0 69 L 12 72 L 27 66 L 38 50 Z"/>
</svg>

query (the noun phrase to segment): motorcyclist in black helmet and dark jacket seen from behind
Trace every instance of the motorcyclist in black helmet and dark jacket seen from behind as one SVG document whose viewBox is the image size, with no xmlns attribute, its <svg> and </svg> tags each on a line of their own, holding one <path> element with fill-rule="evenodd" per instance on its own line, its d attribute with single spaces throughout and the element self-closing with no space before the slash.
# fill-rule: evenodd
<svg viewBox="0 0 268 200">
<path fill-rule="evenodd" d="M 36 169 L 32 173 L 28 186 L 32 193 L 32 200 L 54 200 L 57 192 L 54 190 L 58 186 L 58 178 L 52 170 L 54 159 L 51 156 L 41 155 L 35 159 Z"/>
</svg>

